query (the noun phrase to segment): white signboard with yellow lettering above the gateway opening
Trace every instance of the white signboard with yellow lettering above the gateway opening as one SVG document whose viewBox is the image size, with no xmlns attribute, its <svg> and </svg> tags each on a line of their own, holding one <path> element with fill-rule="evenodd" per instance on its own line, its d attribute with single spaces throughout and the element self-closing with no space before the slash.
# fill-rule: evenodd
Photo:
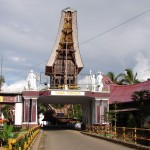
<svg viewBox="0 0 150 150">
<path fill-rule="evenodd" d="M 85 92 L 79 92 L 79 91 L 51 91 L 51 95 L 84 96 Z"/>
</svg>

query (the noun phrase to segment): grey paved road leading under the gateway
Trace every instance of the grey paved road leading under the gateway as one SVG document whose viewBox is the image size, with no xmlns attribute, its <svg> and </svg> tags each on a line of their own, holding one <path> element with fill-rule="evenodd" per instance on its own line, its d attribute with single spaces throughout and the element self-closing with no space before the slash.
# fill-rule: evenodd
<svg viewBox="0 0 150 150">
<path fill-rule="evenodd" d="M 133 150 L 105 140 L 83 135 L 74 130 L 47 130 L 40 150 Z"/>
</svg>

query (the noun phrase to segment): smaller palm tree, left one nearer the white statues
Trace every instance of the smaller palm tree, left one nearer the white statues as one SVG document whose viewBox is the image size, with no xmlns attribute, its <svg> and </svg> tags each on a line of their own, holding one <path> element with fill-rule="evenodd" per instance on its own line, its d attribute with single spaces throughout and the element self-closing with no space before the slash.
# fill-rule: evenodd
<svg viewBox="0 0 150 150">
<path fill-rule="evenodd" d="M 122 81 L 122 78 L 124 77 L 124 74 L 123 73 L 120 73 L 119 75 L 115 75 L 114 72 L 108 72 L 107 73 L 107 77 L 113 82 L 113 83 L 116 83 L 116 84 L 121 84 L 121 81 Z"/>
</svg>

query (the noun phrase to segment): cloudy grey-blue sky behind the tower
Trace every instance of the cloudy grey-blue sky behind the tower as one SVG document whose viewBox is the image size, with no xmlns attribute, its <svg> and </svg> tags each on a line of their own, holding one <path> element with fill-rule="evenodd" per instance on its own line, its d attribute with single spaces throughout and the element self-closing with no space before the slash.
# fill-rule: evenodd
<svg viewBox="0 0 150 150">
<path fill-rule="evenodd" d="M 91 69 L 118 75 L 131 68 L 140 80 L 150 78 L 149 0 L 0 0 L 0 62 L 7 86 L 24 83 L 31 69 L 45 80 L 66 7 L 77 10 L 81 74 Z"/>
</svg>

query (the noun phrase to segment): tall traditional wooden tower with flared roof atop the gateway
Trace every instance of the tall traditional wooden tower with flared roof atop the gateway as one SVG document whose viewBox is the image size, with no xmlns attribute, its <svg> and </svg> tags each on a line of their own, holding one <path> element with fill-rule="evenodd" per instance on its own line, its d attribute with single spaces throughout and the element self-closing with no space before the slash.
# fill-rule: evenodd
<svg viewBox="0 0 150 150">
<path fill-rule="evenodd" d="M 79 52 L 77 11 L 66 8 L 61 12 L 57 38 L 46 64 L 51 88 L 77 85 L 77 75 L 83 69 Z"/>
</svg>

